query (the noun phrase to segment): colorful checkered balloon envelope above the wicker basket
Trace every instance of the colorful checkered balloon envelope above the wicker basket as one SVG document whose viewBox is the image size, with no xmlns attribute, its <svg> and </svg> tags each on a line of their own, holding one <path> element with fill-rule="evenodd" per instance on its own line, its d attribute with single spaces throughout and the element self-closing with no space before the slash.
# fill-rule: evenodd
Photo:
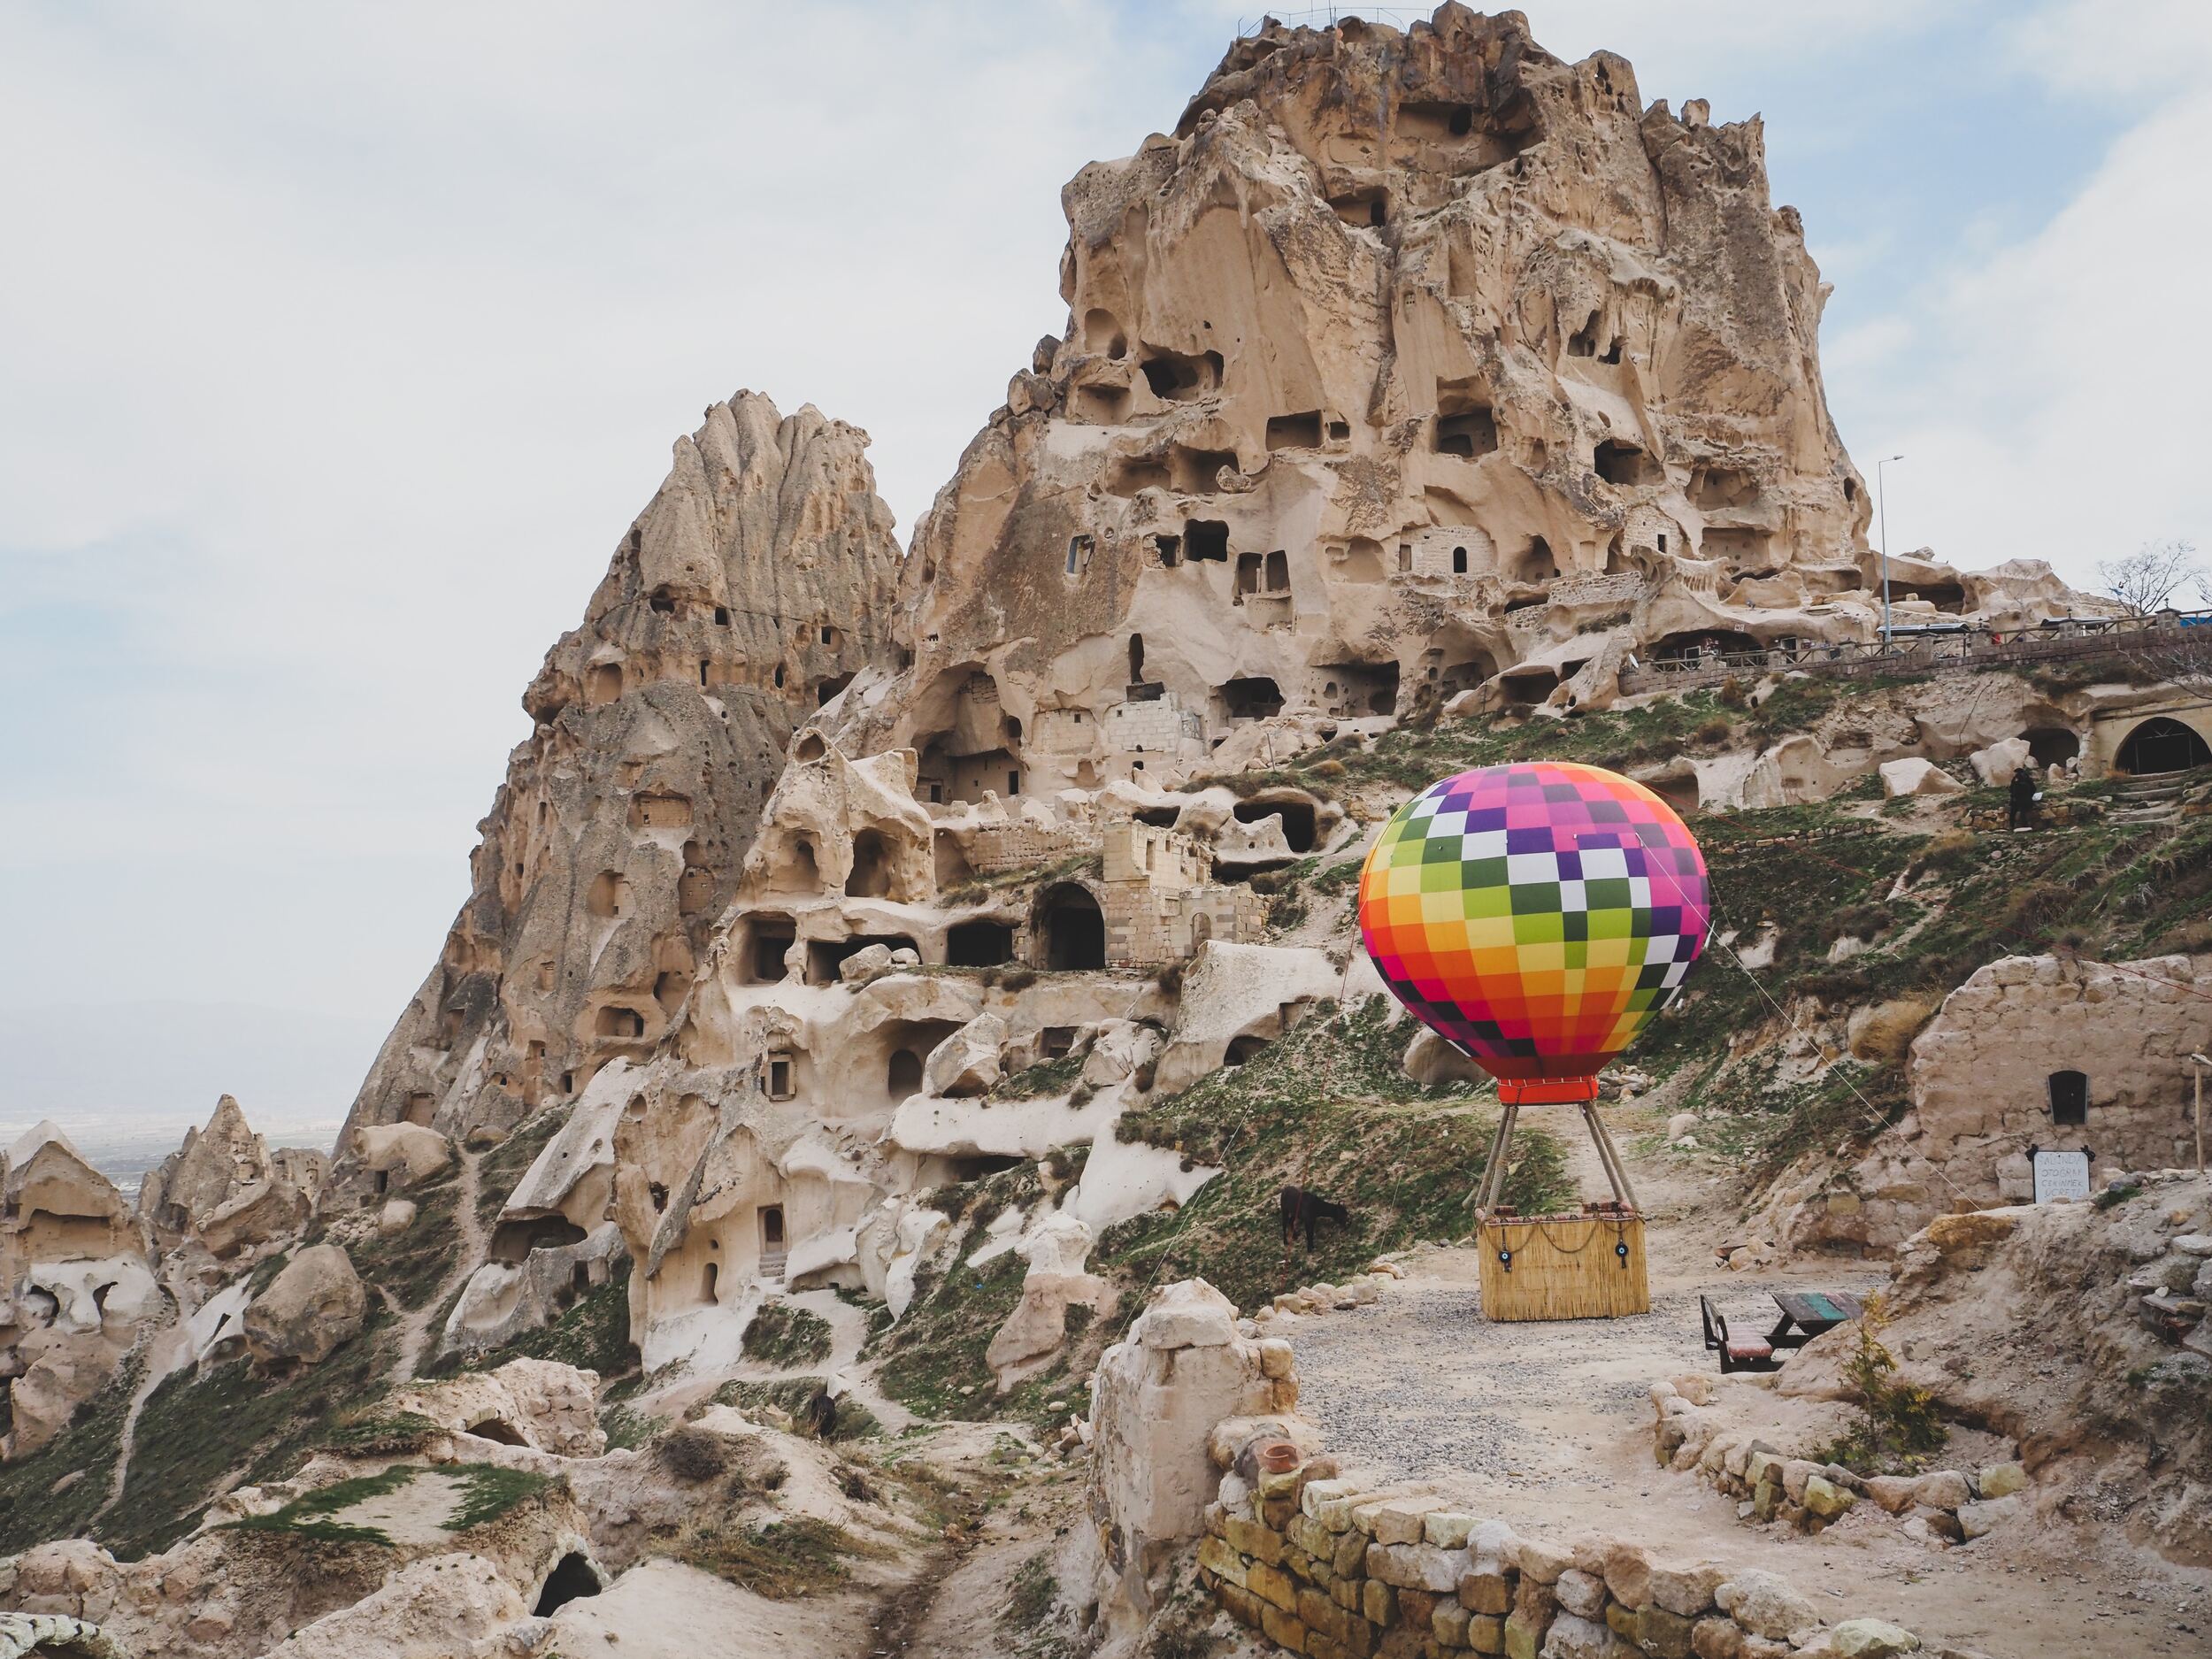
<svg viewBox="0 0 2212 1659">
<path fill-rule="evenodd" d="M 1495 1077 L 1595 1077 L 1681 989 L 1710 918 L 1674 810 L 1571 761 L 1427 787 L 1360 869 L 1383 980 Z"/>
</svg>

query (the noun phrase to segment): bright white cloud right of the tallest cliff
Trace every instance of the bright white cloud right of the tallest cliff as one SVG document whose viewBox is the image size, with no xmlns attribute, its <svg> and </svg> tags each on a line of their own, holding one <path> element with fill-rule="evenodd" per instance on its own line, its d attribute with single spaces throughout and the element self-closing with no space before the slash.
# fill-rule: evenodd
<svg viewBox="0 0 2212 1659">
<path fill-rule="evenodd" d="M 2212 546 L 2194 392 L 2194 294 L 2212 268 L 2212 95 L 2157 104 L 2033 237 L 1938 268 L 1829 361 L 1889 469 L 1891 535 L 1960 564 Z M 1860 349 L 1863 347 L 1863 349 Z M 1832 369 L 1834 372 L 1834 369 Z M 1832 380 L 1840 383 L 1838 380 Z"/>
</svg>

